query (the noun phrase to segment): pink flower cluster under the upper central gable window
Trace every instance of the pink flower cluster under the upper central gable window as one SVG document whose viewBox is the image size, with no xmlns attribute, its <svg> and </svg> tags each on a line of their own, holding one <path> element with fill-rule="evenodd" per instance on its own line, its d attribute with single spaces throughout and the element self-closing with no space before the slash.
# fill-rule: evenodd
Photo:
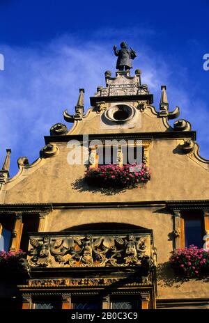
<svg viewBox="0 0 209 323">
<path fill-rule="evenodd" d="M 150 179 L 150 169 L 144 164 L 99 165 L 98 168 L 88 168 L 85 179 L 88 184 L 103 187 L 133 187 Z"/>
</svg>

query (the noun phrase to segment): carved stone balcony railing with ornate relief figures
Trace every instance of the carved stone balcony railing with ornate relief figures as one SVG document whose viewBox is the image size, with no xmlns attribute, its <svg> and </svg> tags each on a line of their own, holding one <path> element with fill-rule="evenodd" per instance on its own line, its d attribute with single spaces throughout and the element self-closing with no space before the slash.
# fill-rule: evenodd
<svg viewBox="0 0 209 323">
<path fill-rule="evenodd" d="M 155 267 L 152 233 L 35 233 L 27 257 L 31 268 Z"/>
</svg>

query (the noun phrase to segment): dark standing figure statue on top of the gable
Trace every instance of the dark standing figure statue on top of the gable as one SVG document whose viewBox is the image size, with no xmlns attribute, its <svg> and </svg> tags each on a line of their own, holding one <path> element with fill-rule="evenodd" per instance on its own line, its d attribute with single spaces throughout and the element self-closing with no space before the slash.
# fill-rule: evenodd
<svg viewBox="0 0 209 323">
<path fill-rule="evenodd" d="M 116 68 L 118 70 L 130 70 L 132 68 L 132 59 L 137 57 L 137 54 L 132 48 L 128 48 L 126 42 L 121 42 L 121 49 L 118 50 L 114 45 L 114 53 L 118 56 Z"/>
</svg>

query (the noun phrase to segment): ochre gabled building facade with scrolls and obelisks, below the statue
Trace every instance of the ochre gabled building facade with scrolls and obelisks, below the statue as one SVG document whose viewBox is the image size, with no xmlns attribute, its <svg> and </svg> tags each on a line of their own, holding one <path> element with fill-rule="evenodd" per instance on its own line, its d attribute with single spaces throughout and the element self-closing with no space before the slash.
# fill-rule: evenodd
<svg viewBox="0 0 209 323">
<path fill-rule="evenodd" d="M 75 114 L 63 113 L 72 127 L 52 126 L 40 158 L 20 157 L 13 178 L 7 150 L 0 245 L 26 259 L 1 279 L 1 308 L 209 305 L 207 276 L 185 279 L 169 264 L 173 249 L 201 248 L 209 230 L 209 161 L 196 132 L 169 110 L 166 86 L 152 105 L 140 70 L 107 71 L 105 81 L 86 113 L 79 90 Z"/>
</svg>

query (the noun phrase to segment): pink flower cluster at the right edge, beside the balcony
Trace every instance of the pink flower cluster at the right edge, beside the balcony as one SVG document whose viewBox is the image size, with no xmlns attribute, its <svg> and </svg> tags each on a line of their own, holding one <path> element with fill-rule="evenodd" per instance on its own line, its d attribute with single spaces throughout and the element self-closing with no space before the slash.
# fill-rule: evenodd
<svg viewBox="0 0 209 323">
<path fill-rule="evenodd" d="M 189 248 L 177 249 L 169 259 L 173 269 L 178 269 L 187 277 L 199 277 L 209 269 L 209 251 L 193 244 Z"/>
</svg>

